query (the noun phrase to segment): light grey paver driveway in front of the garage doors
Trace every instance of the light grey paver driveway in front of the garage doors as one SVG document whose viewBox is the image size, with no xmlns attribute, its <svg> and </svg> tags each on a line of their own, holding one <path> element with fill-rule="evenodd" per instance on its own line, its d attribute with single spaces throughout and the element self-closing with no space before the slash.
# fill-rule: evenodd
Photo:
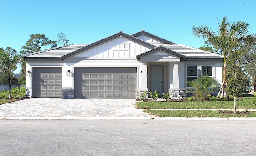
<svg viewBox="0 0 256 156">
<path fill-rule="evenodd" d="M 31 98 L 0 105 L 0 119 L 151 118 L 135 99 Z"/>
</svg>

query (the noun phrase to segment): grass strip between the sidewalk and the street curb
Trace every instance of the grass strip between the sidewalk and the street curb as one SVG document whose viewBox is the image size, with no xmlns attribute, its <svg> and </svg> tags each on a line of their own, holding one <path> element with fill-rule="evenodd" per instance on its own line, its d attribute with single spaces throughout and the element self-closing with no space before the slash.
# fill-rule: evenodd
<svg viewBox="0 0 256 156">
<path fill-rule="evenodd" d="M 143 110 L 145 113 L 149 113 L 158 117 L 256 117 L 256 111 L 250 111 L 249 114 L 245 112 L 237 111 L 236 114 L 232 113 L 232 111 L 210 111 L 210 110 L 190 110 L 190 111 L 164 111 L 164 110 L 152 110 L 145 109 Z"/>
</svg>

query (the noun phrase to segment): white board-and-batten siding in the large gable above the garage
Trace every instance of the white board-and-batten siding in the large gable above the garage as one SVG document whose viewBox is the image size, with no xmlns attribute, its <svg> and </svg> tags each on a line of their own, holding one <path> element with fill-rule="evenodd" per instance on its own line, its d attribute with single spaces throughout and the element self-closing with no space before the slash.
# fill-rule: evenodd
<svg viewBox="0 0 256 156">
<path fill-rule="evenodd" d="M 128 39 L 116 38 L 74 57 L 136 57 L 148 50 L 150 49 Z"/>
</svg>

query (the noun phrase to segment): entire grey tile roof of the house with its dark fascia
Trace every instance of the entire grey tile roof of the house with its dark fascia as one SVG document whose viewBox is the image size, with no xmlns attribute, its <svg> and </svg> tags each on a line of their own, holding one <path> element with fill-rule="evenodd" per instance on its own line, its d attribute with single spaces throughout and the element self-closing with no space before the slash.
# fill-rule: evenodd
<svg viewBox="0 0 256 156">
<path fill-rule="evenodd" d="M 141 33 L 141 32 L 139 32 L 139 33 Z M 107 41 L 109 39 L 115 38 L 116 36 L 119 36 L 119 35 L 123 35 L 123 36 L 125 36 L 129 39 L 135 40 L 139 43 L 141 42 L 144 45 L 152 48 L 151 50 L 149 50 L 148 53 L 151 53 L 152 50 L 156 49 L 157 47 L 162 46 L 166 49 L 169 49 L 170 53 L 173 53 L 173 52 L 178 53 L 179 55 L 182 55 L 183 57 L 185 57 L 185 59 L 223 59 L 222 55 L 219 55 L 219 54 L 216 54 L 216 53 L 211 53 L 209 51 L 200 50 L 200 49 L 197 49 L 197 48 L 194 48 L 194 47 L 189 47 L 189 46 L 182 45 L 182 44 L 175 44 L 175 43 L 172 43 L 172 42 L 167 43 L 167 44 L 146 43 L 146 42 L 134 37 L 134 36 L 138 35 L 139 33 L 136 33 L 136 34 L 133 34 L 133 36 L 130 36 L 130 35 L 125 34 L 123 32 L 119 32 L 119 33 L 114 34 L 114 35 L 112 35 L 108 38 L 104 38 L 100 41 L 96 41 L 95 43 L 92 43 L 92 44 L 69 44 L 69 45 L 64 45 L 64 46 L 61 46 L 61 47 L 54 47 L 54 48 L 46 49 L 44 51 L 39 51 L 39 52 L 36 52 L 36 53 L 31 53 L 31 54 L 28 54 L 28 55 L 24 55 L 24 59 L 25 60 L 29 60 L 29 59 L 56 59 L 56 60 L 62 60 L 66 57 L 74 55 L 75 53 L 78 53 L 78 52 L 83 51 L 85 49 L 88 49 L 90 47 L 96 46 L 99 43 L 102 43 L 102 42 Z M 145 32 L 145 33 L 147 33 L 147 32 Z M 154 36 L 153 34 L 150 34 L 150 35 Z M 142 57 L 144 55 L 148 55 L 148 53 L 145 52 L 145 53 L 140 54 L 140 55 Z"/>
</svg>

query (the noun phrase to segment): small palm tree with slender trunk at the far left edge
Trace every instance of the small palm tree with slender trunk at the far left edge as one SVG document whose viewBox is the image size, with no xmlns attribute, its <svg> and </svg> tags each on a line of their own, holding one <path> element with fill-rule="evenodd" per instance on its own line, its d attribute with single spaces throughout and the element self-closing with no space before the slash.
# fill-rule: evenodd
<svg viewBox="0 0 256 156">
<path fill-rule="evenodd" d="M 20 63 L 21 56 L 17 54 L 15 49 L 11 47 L 7 47 L 6 49 L 0 48 L 0 69 L 2 71 L 6 71 L 9 75 L 9 98 L 12 97 L 11 95 L 11 76 L 13 71 L 17 69 L 17 64 Z"/>
</svg>

